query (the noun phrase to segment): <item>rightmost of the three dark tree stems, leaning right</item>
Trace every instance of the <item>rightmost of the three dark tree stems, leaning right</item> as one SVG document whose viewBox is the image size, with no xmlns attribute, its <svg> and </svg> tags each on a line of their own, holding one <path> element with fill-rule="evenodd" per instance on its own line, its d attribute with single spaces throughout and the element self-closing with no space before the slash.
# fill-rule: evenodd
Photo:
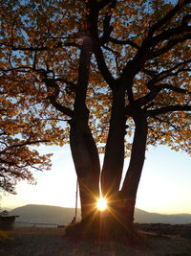
<svg viewBox="0 0 191 256">
<path fill-rule="evenodd" d="M 122 189 L 120 191 L 120 197 L 122 198 L 123 202 L 122 208 L 125 210 L 125 216 L 130 223 L 133 223 L 134 220 L 138 183 L 144 164 L 147 140 L 147 119 L 145 112 L 141 110 L 141 108 L 137 109 L 133 119 L 136 128 L 131 159 Z"/>
</svg>

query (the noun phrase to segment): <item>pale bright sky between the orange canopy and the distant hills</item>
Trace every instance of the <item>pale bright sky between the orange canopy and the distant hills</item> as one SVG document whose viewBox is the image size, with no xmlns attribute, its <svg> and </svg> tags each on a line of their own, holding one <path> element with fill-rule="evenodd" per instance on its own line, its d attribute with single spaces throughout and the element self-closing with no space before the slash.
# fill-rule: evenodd
<svg viewBox="0 0 191 256">
<path fill-rule="evenodd" d="M 76 175 L 70 147 L 44 146 L 40 151 L 53 152 L 52 170 L 35 173 L 37 185 L 19 182 L 17 195 L 1 194 L 2 208 L 26 204 L 74 207 Z M 128 159 L 124 170 L 127 166 Z M 185 152 L 170 151 L 165 146 L 150 147 L 146 152 L 136 207 L 162 214 L 191 214 L 191 157 Z"/>
</svg>

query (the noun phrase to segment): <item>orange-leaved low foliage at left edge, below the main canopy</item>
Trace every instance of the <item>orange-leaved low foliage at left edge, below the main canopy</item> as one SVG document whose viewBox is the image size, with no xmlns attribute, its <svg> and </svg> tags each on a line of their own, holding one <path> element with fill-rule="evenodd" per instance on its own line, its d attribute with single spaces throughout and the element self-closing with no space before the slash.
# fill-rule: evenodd
<svg viewBox="0 0 191 256">
<path fill-rule="evenodd" d="M 32 170 L 51 168 L 51 154 L 40 155 L 29 147 L 48 140 L 36 138 L 33 122 L 20 120 L 18 106 L 19 103 L 4 92 L 0 103 L 0 189 L 12 194 L 15 194 L 15 185 L 20 180 L 34 184 Z"/>
</svg>

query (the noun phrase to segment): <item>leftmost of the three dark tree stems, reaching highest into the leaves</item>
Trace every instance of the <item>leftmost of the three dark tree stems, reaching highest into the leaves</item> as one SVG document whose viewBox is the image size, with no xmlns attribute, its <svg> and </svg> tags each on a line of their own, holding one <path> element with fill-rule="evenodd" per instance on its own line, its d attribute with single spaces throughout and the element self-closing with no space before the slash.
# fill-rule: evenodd
<svg viewBox="0 0 191 256">
<path fill-rule="evenodd" d="M 96 143 L 88 126 L 89 110 L 86 94 L 92 56 L 92 40 L 83 39 L 79 57 L 78 81 L 75 90 L 74 117 L 70 121 L 70 145 L 79 183 L 82 221 L 91 216 L 99 197 L 99 158 Z"/>
</svg>

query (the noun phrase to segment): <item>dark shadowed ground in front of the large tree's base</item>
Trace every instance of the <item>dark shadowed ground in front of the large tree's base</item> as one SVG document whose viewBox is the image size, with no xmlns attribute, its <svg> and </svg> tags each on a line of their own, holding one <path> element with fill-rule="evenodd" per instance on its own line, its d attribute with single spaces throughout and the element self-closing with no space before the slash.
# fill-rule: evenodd
<svg viewBox="0 0 191 256">
<path fill-rule="evenodd" d="M 158 226 L 159 228 L 159 226 Z M 145 229 L 145 226 L 144 228 Z M 169 230 L 169 227 L 167 227 Z M 8 231 L 11 241 L 0 244 L 1 256 L 191 256 L 191 238 L 180 234 L 161 234 L 158 230 L 139 231 L 146 246 L 133 248 L 121 244 L 74 243 L 64 228 L 16 227 Z M 164 232 L 165 233 L 165 232 Z"/>
</svg>

